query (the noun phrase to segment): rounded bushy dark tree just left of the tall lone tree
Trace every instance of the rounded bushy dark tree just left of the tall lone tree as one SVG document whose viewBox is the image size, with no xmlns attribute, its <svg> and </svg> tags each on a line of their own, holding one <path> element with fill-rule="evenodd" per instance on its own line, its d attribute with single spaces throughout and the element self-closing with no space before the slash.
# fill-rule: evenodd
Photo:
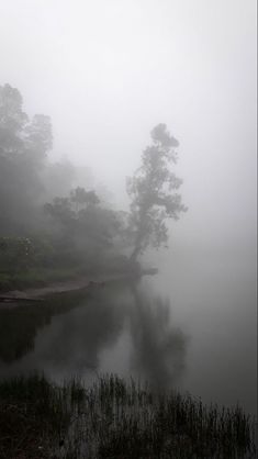
<svg viewBox="0 0 258 459">
<path fill-rule="evenodd" d="M 103 261 L 119 237 L 120 219 L 114 211 L 99 203 L 93 190 L 78 187 L 68 198 L 55 198 L 44 205 L 57 256 L 61 253 L 63 259 L 69 262 L 74 262 L 72 259 L 87 260 L 88 265 Z"/>
</svg>

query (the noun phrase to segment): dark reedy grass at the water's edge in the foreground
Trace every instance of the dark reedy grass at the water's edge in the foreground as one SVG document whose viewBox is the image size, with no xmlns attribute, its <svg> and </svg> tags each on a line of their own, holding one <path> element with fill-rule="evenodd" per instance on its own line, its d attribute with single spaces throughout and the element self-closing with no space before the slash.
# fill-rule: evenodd
<svg viewBox="0 0 258 459">
<path fill-rule="evenodd" d="M 0 382 L 2 459 L 255 458 L 255 421 L 239 406 L 152 393 L 115 374 L 85 388 L 44 376 Z"/>
</svg>

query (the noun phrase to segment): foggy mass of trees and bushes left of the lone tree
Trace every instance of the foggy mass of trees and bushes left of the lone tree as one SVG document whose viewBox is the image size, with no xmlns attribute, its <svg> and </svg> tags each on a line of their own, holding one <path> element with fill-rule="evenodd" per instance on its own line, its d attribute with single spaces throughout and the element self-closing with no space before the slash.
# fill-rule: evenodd
<svg viewBox="0 0 258 459">
<path fill-rule="evenodd" d="M 22 97 L 0 87 L 0 286 L 93 272 L 124 262 L 124 214 L 103 203 L 92 179 L 78 187 L 68 160 L 51 161 L 51 119 L 23 111 Z M 81 175 L 81 173 L 80 173 Z M 85 173 L 85 176 L 87 176 Z M 80 178 L 81 182 L 81 178 Z M 69 272 L 68 272 L 69 271 Z"/>
</svg>

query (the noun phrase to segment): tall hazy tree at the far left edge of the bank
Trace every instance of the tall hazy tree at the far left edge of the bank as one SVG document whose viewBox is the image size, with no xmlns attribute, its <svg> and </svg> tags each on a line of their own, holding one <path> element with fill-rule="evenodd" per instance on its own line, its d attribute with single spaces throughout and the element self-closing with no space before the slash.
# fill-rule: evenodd
<svg viewBox="0 0 258 459">
<path fill-rule="evenodd" d="M 35 208 L 44 192 L 40 170 L 51 147 L 49 117 L 31 121 L 19 90 L 0 86 L 0 234 L 24 235 L 36 224 Z"/>
</svg>

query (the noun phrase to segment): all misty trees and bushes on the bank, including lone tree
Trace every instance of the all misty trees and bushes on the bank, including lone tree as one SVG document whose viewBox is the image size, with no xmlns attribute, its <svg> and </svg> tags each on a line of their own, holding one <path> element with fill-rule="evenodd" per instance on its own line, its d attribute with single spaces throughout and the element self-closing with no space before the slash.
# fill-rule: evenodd
<svg viewBox="0 0 258 459">
<path fill-rule="evenodd" d="M 89 173 L 79 186 L 80 169 L 51 161 L 49 116 L 30 119 L 19 90 L 0 87 L 0 290 L 132 272 L 148 246 L 166 244 L 165 220 L 186 210 L 171 193 L 181 180 L 168 167 L 178 142 L 165 124 L 152 131 L 152 139 L 128 180 L 130 212 L 114 211 Z"/>
</svg>

